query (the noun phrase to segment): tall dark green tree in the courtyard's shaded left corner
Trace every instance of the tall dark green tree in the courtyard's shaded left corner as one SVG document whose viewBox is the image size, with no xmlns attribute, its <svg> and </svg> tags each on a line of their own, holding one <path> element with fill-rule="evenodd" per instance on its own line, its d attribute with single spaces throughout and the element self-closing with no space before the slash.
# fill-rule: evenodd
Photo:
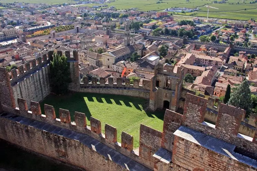
<svg viewBox="0 0 257 171">
<path fill-rule="evenodd" d="M 54 53 L 50 62 L 50 86 L 55 94 L 64 94 L 68 91 L 70 78 L 69 63 L 66 56 Z"/>
</svg>

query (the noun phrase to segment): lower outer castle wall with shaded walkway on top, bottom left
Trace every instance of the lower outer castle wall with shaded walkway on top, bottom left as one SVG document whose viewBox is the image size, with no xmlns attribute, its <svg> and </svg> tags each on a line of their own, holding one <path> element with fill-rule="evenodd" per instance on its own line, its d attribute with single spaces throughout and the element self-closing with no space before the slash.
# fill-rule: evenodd
<svg viewBox="0 0 257 171">
<path fill-rule="evenodd" d="M 87 135 L 24 117 L 9 118 L 0 117 L 0 138 L 29 150 L 88 171 L 150 171 Z"/>
</svg>

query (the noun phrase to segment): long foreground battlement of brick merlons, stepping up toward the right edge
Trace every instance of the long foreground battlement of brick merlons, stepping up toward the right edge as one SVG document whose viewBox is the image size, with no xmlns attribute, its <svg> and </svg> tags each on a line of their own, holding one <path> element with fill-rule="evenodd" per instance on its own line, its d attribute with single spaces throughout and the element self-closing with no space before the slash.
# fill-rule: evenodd
<svg viewBox="0 0 257 171">
<path fill-rule="evenodd" d="M 174 165 L 174 167 L 179 164 L 181 156 L 176 151 L 180 150 L 178 143 L 184 140 L 190 145 L 200 143 L 201 150 L 212 150 L 223 156 L 217 157 L 217 160 L 232 160 L 232 170 L 234 168 L 243 168 L 243 170 L 257 168 L 257 162 L 254 160 L 256 159 L 257 131 L 252 139 L 238 134 L 238 125 L 240 125 L 245 111 L 221 103 L 218 112 L 219 119 L 213 126 L 203 120 L 207 99 L 189 93 L 187 94 L 183 115 L 166 109 L 163 132 L 146 125 L 140 125 L 139 152 L 133 150 L 133 137 L 125 132 L 121 133 L 121 143 L 117 142 L 117 129 L 111 125 L 105 124 L 105 134 L 102 134 L 101 121 L 91 117 L 90 127 L 88 127 L 85 113 L 75 112 L 75 122 L 71 122 L 69 110 L 59 109 L 60 118 L 58 119 L 53 106 L 45 104 L 45 115 L 42 115 L 38 102 L 31 101 L 31 111 L 28 110 L 29 107 L 25 99 L 19 98 L 18 105 L 19 108 L 16 107 L 15 109 L 16 115 L 89 135 L 150 169 L 168 169 L 169 164 Z M 227 126 L 224 127 L 224 124 Z M 188 137 L 188 135 L 193 136 L 193 138 Z M 208 139 L 204 138 L 206 136 L 208 136 Z M 209 143 L 203 143 L 204 140 Z M 213 147 L 210 142 L 216 142 L 216 146 L 220 147 Z M 225 146 L 222 146 L 222 144 Z M 217 151 L 219 148 L 229 153 Z M 186 154 L 189 155 L 190 152 Z M 179 165 L 184 167 L 182 170 L 193 167 L 181 163 Z M 175 168 L 174 170 L 176 171 Z M 181 170 L 181 168 L 178 170 Z"/>
</svg>

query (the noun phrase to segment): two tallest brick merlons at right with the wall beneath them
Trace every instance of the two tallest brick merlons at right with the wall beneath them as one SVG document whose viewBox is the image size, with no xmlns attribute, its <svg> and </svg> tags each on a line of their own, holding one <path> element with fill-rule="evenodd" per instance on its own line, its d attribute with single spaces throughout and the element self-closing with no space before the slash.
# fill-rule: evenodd
<svg viewBox="0 0 257 171">
<path fill-rule="evenodd" d="M 220 103 L 217 121 L 213 125 L 204 121 L 207 106 L 213 107 L 207 102 L 207 99 L 187 93 L 182 125 L 234 144 L 242 154 L 257 159 L 257 130 L 253 138 L 238 133 L 246 111 Z"/>
</svg>

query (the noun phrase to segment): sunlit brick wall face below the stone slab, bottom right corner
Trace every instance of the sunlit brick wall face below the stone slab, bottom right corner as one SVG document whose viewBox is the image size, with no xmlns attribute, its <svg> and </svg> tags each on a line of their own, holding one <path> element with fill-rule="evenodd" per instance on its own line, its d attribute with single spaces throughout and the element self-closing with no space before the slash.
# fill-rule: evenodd
<svg viewBox="0 0 257 171">
<path fill-rule="evenodd" d="M 204 141 L 204 140 L 203 140 Z M 215 142 L 212 142 L 215 144 Z M 172 162 L 192 171 L 254 171 L 254 168 L 175 136 Z M 180 170 L 180 169 L 179 169 Z"/>
</svg>

